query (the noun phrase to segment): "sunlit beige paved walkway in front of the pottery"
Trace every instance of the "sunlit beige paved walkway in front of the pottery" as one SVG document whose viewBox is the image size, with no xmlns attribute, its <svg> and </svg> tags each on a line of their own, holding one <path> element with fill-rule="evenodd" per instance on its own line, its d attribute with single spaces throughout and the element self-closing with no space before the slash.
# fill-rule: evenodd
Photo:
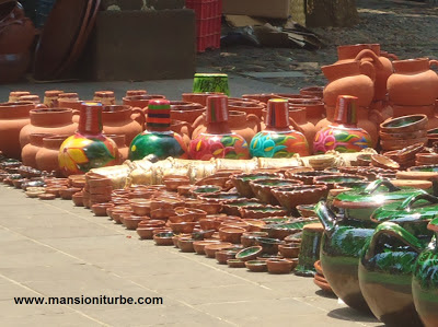
<svg viewBox="0 0 438 327">
<path fill-rule="evenodd" d="M 16 305 L 15 296 L 131 296 L 162 305 Z M 380 326 L 312 279 L 231 269 L 140 241 L 71 201 L 0 185 L 0 326 Z"/>
</svg>

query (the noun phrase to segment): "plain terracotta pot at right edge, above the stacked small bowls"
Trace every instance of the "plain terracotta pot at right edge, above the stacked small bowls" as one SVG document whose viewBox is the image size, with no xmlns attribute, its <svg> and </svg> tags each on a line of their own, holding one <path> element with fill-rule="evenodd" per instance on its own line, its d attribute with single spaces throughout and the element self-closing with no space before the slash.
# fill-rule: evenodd
<svg viewBox="0 0 438 327">
<path fill-rule="evenodd" d="M 438 97 L 438 75 L 430 66 L 437 60 L 428 58 L 396 60 L 394 73 L 388 79 L 388 95 L 392 104 L 428 106 Z"/>
</svg>

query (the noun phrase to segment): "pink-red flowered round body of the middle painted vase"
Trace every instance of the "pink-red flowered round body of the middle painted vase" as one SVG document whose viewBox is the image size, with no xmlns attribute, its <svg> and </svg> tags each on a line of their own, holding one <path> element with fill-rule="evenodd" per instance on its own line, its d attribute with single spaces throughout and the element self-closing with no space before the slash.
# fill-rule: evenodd
<svg viewBox="0 0 438 327">
<path fill-rule="evenodd" d="M 201 133 L 192 140 L 188 149 L 191 159 L 250 159 L 250 150 L 241 136 Z"/>
</svg>

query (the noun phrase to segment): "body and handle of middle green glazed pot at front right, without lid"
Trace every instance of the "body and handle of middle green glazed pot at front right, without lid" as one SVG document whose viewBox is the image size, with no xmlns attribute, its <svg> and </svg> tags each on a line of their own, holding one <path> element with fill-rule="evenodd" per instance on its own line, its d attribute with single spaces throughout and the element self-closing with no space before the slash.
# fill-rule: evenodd
<svg viewBox="0 0 438 327">
<path fill-rule="evenodd" d="M 414 262 L 430 237 L 416 237 L 384 222 L 367 242 L 359 261 L 359 284 L 374 316 L 388 326 L 423 326 L 412 295 Z"/>
</svg>

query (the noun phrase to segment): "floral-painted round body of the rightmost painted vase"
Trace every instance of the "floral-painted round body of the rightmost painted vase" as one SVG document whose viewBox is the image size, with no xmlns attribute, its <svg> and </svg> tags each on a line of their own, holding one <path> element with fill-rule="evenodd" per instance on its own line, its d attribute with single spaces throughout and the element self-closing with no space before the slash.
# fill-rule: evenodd
<svg viewBox="0 0 438 327">
<path fill-rule="evenodd" d="M 341 153 L 359 152 L 371 147 L 370 136 L 361 128 L 325 127 L 316 133 L 313 142 L 315 154 L 323 154 L 328 150 Z"/>
</svg>

